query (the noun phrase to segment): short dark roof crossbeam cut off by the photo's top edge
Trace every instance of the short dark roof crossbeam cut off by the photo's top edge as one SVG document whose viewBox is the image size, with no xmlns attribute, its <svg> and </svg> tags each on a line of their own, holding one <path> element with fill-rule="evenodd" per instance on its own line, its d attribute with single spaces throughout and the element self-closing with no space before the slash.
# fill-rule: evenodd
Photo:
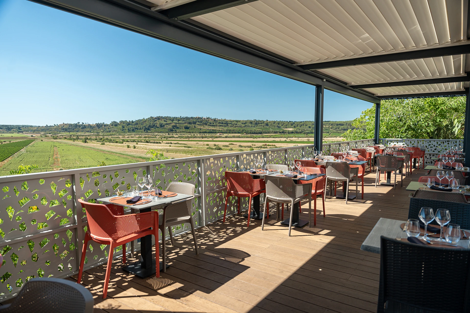
<svg viewBox="0 0 470 313">
<path fill-rule="evenodd" d="M 226 8 L 232 8 L 253 1 L 257 0 L 196 0 L 159 12 L 168 18 L 184 20 L 194 16 L 203 15 Z"/>
</svg>

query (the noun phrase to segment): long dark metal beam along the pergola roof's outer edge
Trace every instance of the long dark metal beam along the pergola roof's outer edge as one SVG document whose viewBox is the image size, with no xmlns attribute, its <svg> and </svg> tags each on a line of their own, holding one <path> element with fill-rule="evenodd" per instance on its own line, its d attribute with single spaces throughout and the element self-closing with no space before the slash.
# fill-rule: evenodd
<svg viewBox="0 0 470 313">
<path fill-rule="evenodd" d="M 377 103 L 380 99 L 370 92 L 355 90 L 330 77 L 300 69 L 285 60 L 246 46 L 185 21 L 168 19 L 130 0 L 30 0 L 66 12 L 161 39 L 179 46 L 211 54 L 255 69 L 284 76 L 306 84 L 321 85 L 334 92 Z"/>
</svg>

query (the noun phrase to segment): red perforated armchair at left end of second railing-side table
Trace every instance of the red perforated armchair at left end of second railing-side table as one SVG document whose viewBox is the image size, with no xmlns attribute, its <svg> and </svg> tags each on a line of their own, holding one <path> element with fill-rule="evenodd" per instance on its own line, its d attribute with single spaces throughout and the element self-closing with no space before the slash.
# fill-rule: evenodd
<svg viewBox="0 0 470 313">
<path fill-rule="evenodd" d="M 251 199 L 266 192 L 264 179 L 253 179 L 249 173 L 225 172 L 227 181 L 227 196 L 225 197 L 224 223 L 227 214 L 228 197 L 238 197 L 238 214 L 240 214 L 240 197 L 250 197 L 248 200 L 248 222 L 250 226 Z"/>
</svg>

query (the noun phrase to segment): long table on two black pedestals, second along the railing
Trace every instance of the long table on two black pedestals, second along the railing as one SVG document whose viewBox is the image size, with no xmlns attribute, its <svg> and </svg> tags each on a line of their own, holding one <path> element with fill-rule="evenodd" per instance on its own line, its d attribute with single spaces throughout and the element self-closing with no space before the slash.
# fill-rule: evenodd
<svg viewBox="0 0 470 313">
<path fill-rule="evenodd" d="M 239 172 L 248 172 L 250 173 L 248 170 L 239 170 Z M 289 173 L 291 173 L 289 171 Z M 281 173 L 280 171 L 278 170 L 275 170 L 275 171 L 268 171 L 268 170 L 260 170 L 260 171 L 257 171 L 256 173 L 250 173 L 250 175 L 256 179 L 256 178 L 261 178 L 261 177 L 264 177 L 265 175 L 272 175 L 272 176 L 281 176 L 281 175 L 284 175 L 285 173 Z M 293 174 L 297 174 L 297 172 L 293 172 Z M 314 179 L 314 178 L 317 178 L 317 177 L 320 177 L 320 176 L 325 176 L 325 174 L 313 174 L 313 175 L 302 175 L 302 176 L 298 176 L 298 177 L 291 177 L 292 180 L 294 181 L 294 183 L 298 183 L 298 181 L 308 181 L 308 180 L 311 180 L 311 179 Z M 258 197 L 258 201 L 255 202 L 255 198 Z M 259 208 L 259 196 L 257 197 L 253 197 L 253 215 L 250 216 L 250 219 L 251 218 L 255 218 L 255 219 L 263 219 L 263 214 L 260 212 L 260 208 Z M 292 210 L 294 210 L 292 212 L 292 226 L 295 226 L 295 227 L 303 227 L 305 224 L 308 223 L 308 221 L 305 221 L 305 220 L 301 220 L 300 219 L 300 216 L 299 216 L 299 207 L 300 207 L 300 202 L 297 202 L 294 204 L 294 207 L 291 208 Z M 243 215 L 245 217 L 248 217 L 248 214 L 245 214 Z M 253 216 L 256 216 L 256 217 L 253 217 Z M 289 225 L 290 224 L 290 218 L 284 220 L 281 222 L 281 224 L 283 225 Z"/>
</svg>

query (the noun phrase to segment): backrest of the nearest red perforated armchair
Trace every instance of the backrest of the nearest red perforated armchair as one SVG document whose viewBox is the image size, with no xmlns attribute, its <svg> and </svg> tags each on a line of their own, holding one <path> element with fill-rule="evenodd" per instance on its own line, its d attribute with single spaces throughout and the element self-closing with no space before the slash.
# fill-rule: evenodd
<svg viewBox="0 0 470 313">
<path fill-rule="evenodd" d="M 86 210 L 86 220 L 90 234 L 96 237 L 113 238 L 118 229 L 115 217 L 104 204 L 85 202 L 78 199 Z"/>
</svg>

